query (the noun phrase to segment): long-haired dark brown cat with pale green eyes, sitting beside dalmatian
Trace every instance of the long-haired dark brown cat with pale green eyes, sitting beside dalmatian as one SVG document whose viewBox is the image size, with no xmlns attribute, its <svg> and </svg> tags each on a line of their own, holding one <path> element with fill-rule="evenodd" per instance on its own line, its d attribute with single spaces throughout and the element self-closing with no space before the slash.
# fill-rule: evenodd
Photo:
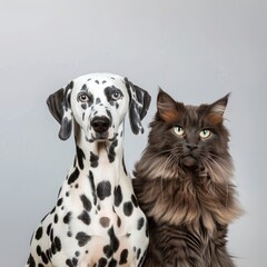
<svg viewBox="0 0 267 267">
<path fill-rule="evenodd" d="M 144 267 L 233 267 L 228 225 L 240 216 L 224 112 L 229 95 L 199 107 L 160 89 L 135 192 L 149 221 Z"/>
</svg>

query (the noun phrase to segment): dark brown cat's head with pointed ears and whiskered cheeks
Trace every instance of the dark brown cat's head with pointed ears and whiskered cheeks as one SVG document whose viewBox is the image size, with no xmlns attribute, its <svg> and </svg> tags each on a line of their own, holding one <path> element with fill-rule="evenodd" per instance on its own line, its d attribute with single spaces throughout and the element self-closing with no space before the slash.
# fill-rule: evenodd
<svg viewBox="0 0 267 267">
<path fill-rule="evenodd" d="M 200 170 L 216 170 L 218 179 L 221 175 L 229 175 L 226 174 L 227 170 L 231 171 L 229 134 L 224 126 L 228 97 L 195 107 L 177 102 L 159 90 L 146 157 L 148 165 L 150 157 L 154 157 L 154 162 L 157 161 L 155 171 L 158 176 L 171 177 L 181 171 Z M 149 166 L 147 168 L 151 169 Z"/>
</svg>

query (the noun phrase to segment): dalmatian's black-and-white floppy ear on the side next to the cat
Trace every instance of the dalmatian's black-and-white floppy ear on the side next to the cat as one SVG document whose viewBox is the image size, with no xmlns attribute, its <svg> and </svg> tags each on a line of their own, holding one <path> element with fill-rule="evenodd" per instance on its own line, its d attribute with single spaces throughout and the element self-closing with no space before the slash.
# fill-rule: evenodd
<svg viewBox="0 0 267 267">
<path fill-rule="evenodd" d="M 144 134 L 141 120 L 147 115 L 151 97 L 146 90 L 132 85 L 127 78 L 125 78 L 125 82 L 130 96 L 129 118 L 131 130 L 135 135 Z"/>
</svg>

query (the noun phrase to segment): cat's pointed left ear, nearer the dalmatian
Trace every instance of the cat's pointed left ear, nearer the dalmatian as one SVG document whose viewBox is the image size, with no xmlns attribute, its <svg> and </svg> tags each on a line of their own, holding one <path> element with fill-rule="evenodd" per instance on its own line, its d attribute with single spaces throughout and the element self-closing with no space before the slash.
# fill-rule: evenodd
<svg viewBox="0 0 267 267">
<path fill-rule="evenodd" d="M 161 88 L 159 88 L 157 98 L 157 109 L 160 119 L 168 123 L 172 123 L 179 117 L 177 102 Z"/>
</svg>

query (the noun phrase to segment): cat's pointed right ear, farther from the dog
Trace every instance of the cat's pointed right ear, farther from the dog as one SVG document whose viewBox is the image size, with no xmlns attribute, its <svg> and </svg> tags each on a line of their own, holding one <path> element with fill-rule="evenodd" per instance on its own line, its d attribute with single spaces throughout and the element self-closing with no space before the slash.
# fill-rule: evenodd
<svg viewBox="0 0 267 267">
<path fill-rule="evenodd" d="M 221 123 L 230 93 L 210 105 L 208 120 L 211 125 Z"/>
</svg>

